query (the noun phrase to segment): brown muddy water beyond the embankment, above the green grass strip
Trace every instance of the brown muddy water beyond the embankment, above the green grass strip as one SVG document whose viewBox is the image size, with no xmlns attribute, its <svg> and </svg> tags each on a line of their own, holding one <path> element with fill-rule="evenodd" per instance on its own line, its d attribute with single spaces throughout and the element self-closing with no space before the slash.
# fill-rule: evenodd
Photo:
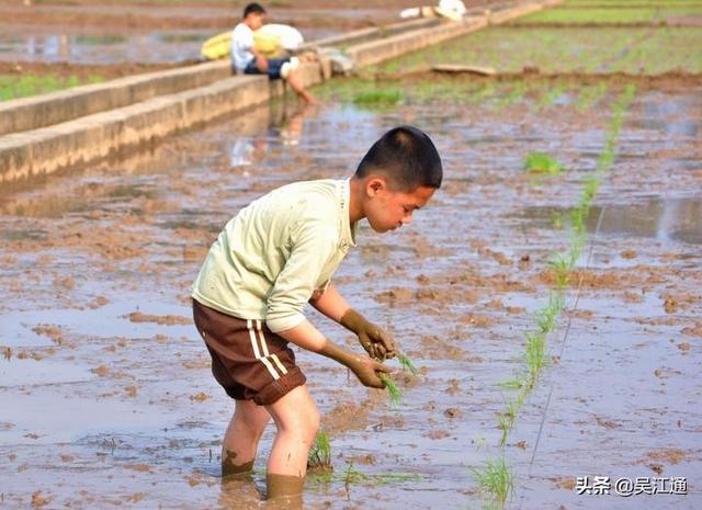
<svg viewBox="0 0 702 510">
<path fill-rule="evenodd" d="M 270 21 L 287 23 L 315 41 L 398 21 L 398 9 L 279 9 Z M 200 58 L 207 38 L 230 30 L 239 9 L 169 5 L 0 4 L 0 60 L 116 65 L 173 64 Z"/>
</svg>

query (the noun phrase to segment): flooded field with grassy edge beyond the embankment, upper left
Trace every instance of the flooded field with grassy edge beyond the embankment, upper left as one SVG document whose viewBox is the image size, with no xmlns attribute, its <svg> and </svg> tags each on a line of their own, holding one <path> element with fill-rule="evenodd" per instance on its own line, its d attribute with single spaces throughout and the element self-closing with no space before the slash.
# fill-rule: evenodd
<svg viewBox="0 0 702 510">
<path fill-rule="evenodd" d="M 0 101 L 192 65 L 203 42 L 239 22 L 245 3 L 0 0 Z M 291 24 L 315 41 L 395 23 L 404 3 L 268 7 L 270 22 Z"/>
</svg>

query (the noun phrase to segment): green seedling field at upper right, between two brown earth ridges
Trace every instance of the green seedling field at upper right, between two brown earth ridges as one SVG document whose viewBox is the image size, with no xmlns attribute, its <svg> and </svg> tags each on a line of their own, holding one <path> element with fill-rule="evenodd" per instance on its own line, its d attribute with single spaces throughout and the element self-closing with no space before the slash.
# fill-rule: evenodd
<svg viewBox="0 0 702 510">
<path fill-rule="evenodd" d="M 497 72 L 658 75 L 702 72 L 700 29 L 528 27 L 505 25 L 454 39 L 378 66 L 383 72 L 410 72 L 439 64 L 487 66 Z"/>
</svg>

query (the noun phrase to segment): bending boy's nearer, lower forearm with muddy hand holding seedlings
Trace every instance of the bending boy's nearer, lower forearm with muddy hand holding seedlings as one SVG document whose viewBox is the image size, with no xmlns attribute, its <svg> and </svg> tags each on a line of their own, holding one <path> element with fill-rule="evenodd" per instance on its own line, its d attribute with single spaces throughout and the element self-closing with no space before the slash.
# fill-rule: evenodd
<svg viewBox="0 0 702 510">
<path fill-rule="evenodd" d="M 389 372 L 385 365 L 371 358 L 354 354 L 337 345 L 325 338 L 307 319 L 294 328 L 279 331 L 278 335 L 303 349 L 317 352 L 348 366 L 365 386 L 373 388 L 382 388 L 385 386 L 377 374 L 378 372 Z"/>
</svg>

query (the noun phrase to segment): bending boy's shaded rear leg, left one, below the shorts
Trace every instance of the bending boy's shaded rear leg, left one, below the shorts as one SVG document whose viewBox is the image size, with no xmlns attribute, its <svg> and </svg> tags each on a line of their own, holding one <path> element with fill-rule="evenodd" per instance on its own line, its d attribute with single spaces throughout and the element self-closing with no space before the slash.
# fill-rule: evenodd
<svg viewBox="0 0 702 510">
<path fill-rule="evenodd" d="M 249 473 L 263 429 L 271 419 L 268 410 L 251 400 L 236 400 L 234 417 L 222 442 L 222 476 Z"/>
</svg>

